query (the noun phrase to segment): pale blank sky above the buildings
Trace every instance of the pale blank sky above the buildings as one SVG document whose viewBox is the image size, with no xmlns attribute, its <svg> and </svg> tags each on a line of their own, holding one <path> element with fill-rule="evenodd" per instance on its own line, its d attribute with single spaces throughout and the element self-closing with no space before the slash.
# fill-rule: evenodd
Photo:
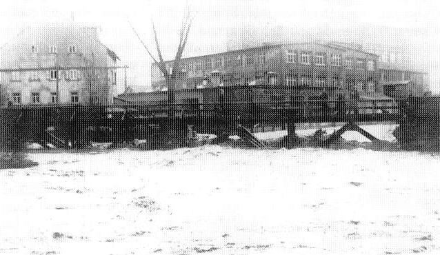
<svg viewBox="0 0 440 255">
<path fill-rule="evenodd" d="M 440 92 L 440 1 L 437 0 L 188 0 L 194 21 L 185 56 L 221 52 L 264 41 L 334 39 L 391 45 L 417 56 Z M 157 24 L 166 59 L 176 52 L 186 1 L 15 0 L 0 3 L 0 44 L 24 27 L 46 22 L 86 23 L 130 66 L 128 84 L 150 90 L 150 63 L 128 21 L 154 50 Z M 243 36 L 240 36 L 243 34 Z M 241 42 L 244 41 L 243 44 Z M 121 91 L 123 88 L 119 88 Z"/>
</svg>

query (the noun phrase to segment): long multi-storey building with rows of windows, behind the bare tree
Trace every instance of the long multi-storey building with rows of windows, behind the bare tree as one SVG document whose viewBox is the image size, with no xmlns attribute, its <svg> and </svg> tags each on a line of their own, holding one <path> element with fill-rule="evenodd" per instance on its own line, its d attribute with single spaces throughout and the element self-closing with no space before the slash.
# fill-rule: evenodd
<svg viewBox="0 0 440 255">
<path fill-rule="evenodd" d="M 307 99 L 314 93 L 357 90 L 361 95 L 383 93 L 377 68 L 379 56 L 321 43 L 265 45 L 181 59 L 176 90 L 217 86 L 296 88 Z M 167 61 L 170 70 L 172 61 Z M 152 64 L 154 90 L 166 90 L 163 74 Z M 333 93 L 334 92 L 334 93 Z"/>
</svg>

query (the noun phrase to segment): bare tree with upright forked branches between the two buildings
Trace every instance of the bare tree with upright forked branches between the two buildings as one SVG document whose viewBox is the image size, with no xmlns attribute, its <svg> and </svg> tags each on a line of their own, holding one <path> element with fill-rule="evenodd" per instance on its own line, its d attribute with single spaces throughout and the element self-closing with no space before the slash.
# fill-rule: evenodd
<svg viewBox="0 0 440 255">
<path fill-rule="evenodd" d="M 183 54 L 183 50 L 185 49 L 186 42 L 188 41 L 188 34 L 190 32 L 191 23 L 192 23 L 192 17 L 190 15 L 190 11 L 187 7 L 185 15 L 182 19 L 181 28 L 179 32 L 179 46 L 177 47 L 176 57 L 174 57 L 174 61 L 172 62 L 172 69 L 170 71 L 167 70 L 166 65 L 163 61 L 161 48 L 159 46 L 159 40 L 157 39 L 157 30 L 154 26 L 154 21 L 151 21 L 152 23 L 152 31 L 154 34 L 154 42 L 156 44 L 157 49 L 157 55 L 159 57 L 159 61 L 157 61 L 156 58 L 154 58 L 152 52 L 148 49 L 147 45 L 143 43 L 141 37 L 139 37 L 139 34 L 136 32 L 136 30 L 133 28 L 133 26 L 130 23 L 130 26 L 132 30 L 134 31 L 134 34 L 136 34 L 139 41 L 141 41 L 143 47 L 147 50 L 148 54 L 154 61 L 154 63 L 157 64 L 159 67 L 159 70 L 163 73 L 163 76 L 166 80 L 166 88 L 168 88 L 168 104 L 170 105 L 170 114 L 172 114 L 172 105 L 175 101 L 174 96 L 174 89 L 176 87 L 177 78 L 179 76 L 179 73 L 181 72 L 180 69 L 180 60 Z"/>
</svg>

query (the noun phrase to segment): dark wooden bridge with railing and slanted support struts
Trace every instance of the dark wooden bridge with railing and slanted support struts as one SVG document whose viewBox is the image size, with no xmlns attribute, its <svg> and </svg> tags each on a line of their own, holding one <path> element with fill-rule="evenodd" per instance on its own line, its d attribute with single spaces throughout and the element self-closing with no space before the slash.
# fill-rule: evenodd
<svg viewBox="0 0 440 255">
<path fill-rule="evenodd" d="M 3 148 L 7 150 L 26 143 L 69 148 L 93 141 L 116 145 L 133 139 L 147 139 L 161 147 L 185 141 L 188 130 L 216 134 L 219 140 L 239 134 L 258 146 L 249 132 L 257 124 L 286 125 L 288 135 L 295 136 L 295 123 L 347 123 L 330 136 L 328 143 L 346 130 L 356 130 L 374 140 L 356 123 L 398 121 L 402 112 L 402 106 L 392 100 L 23 105 L 1 108 L 1 128 Z"/>
</svg>

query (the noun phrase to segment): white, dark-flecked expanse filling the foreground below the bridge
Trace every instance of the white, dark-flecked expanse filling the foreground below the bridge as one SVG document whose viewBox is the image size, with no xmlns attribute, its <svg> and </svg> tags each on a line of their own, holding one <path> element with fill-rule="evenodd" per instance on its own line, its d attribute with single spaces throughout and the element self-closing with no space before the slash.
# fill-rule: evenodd
<svg viewBox="0 0 440 255">
<path fill-rule="evenodd" d="M 365 149 L 30 154 L 0 254 L 440 254 L 440 156 Z"/>
</svg>

